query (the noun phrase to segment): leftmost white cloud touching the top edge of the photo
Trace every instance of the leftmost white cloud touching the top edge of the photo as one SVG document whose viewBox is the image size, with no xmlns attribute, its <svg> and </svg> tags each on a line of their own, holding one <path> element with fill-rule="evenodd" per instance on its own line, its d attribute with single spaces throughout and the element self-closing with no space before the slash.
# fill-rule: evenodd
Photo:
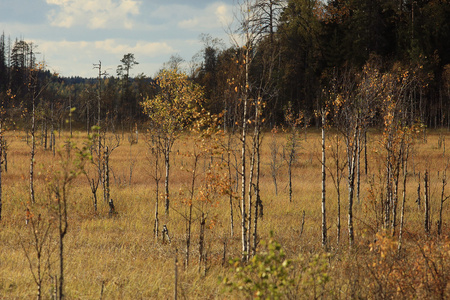
<svg viewBox="0 0 450 300">
<path fill-rule="evenodd" d="M 139 14 L 141 2 L 136 0 L 46 0 L 57 6 L 47 17 L 56 27 L 87 26 L 99 28 L 133 28 L 132 15 Z"/>
</svg>

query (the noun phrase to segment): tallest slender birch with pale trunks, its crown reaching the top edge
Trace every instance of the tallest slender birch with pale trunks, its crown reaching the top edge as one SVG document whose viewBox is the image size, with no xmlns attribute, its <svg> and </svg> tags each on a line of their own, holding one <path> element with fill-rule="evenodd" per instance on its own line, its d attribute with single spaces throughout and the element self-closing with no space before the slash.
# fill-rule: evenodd
<svg viewBox="0 0 450 300">
<path fill-rule="evenodd" d="M 248 258 L 250 250 L 256 251 L 257 218 L 262 208 L 259 196 L 259 145 L 261 143 L 261 118 L 264 104 L 274 96 L 273 69 L 279 54 L 273 47 L 273 33 L 276 20 L 281 11 L 283 1 L 242 0 L 238 3 L 235 21 L 237 31 L 230 32 L 234 42 L 236 62 L 240 68 L 240 81 L 233 80 L 235 91 L 240 99 L 241 120 L 241 172 L 240 172 L 240 200 L 241 200 L 241 242 L 243 259 Z M 265 38 L 269 42 L 261 43 Z M 259 47 L 258 47 L 259 46 Z M 269 50 L 268 50 L 269 49 Z M 266 51 L 268 50 L 268 51 Z M 252 78 L 251 68 L 255 65 L 255 58 L 259 56 L 259 78 Z M 252 111 L 253 110 L 253 111 Z M 254 133 L 251 148 L 247 145 L 249 126 L 253 125 Z M 250 161 L 247 160 L 250 156 Z M 255 196 L 253 198 L 253 196 Z M 253 201 L 256 198 L 256 201 Z M 247 203 L 246 203 L 247 199 Z M 252 231 L 252 207 L 255 207 L 253 221 L 253 249 L 251 249 L 250 234 Z M 253 252 L 254 252 L 253 251 Z"/>
</svg>

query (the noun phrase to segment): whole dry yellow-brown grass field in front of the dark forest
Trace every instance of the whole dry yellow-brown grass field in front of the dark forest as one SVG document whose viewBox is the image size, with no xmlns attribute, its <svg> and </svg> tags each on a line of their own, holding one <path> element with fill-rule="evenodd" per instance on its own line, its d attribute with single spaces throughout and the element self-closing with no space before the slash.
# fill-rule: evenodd
<svg viewBox="0 0 450 300">
<path fill-rule="evenodd" d="M 329 136 L 332 136 L 330 133 Z M 174 297 L 175 259 L 177 296 L 181 299 L 242 299 L 252 292 L 228 291 L 221 278 L 239 284 L 236 268 L 229 259 L 241 256 L 239 200 L 234 200 L 234 235 L 230 236 L 230 204 L 228 197 L 209 190 L 206 197 L 205 178 L 210 174 L 226 174 L 224 154 L 203 155 L 197 164 L 193 199 L 193 225 L 190 264 L 183 264 L 186 243 L 186 216 L 192 182 L 193 153 L 200 153 L 200 139 L 183 135 L 175 143 L 171 156 L 169 215 L 164 214 L 160 199 L 160 229 L 165 224 L 171 242 L 155 240 L 154 158 L 144 135 L 131 145 L 129 134 L 120 134 L 121 144 L 110 159 L 111 198 L 117 214 L 110 216 L 99 187 L 98 211 L 94 211 L 92 193 L 84 175 L 79 175 L 68 189 L 68 233 L 64 239 L 65 294 L 68 299 L 170 299 Z M 379 217 L 383 194 L 384 161 L 380 135 L 368 134 L 368 173 L 362 169 L 361 196 L 355 199 L 355 245 L 349 249 L 347 237 L 347 185 L 341 183 L 341 240 L 337 244 L 337 194 L 330 175 L 327 177 L 328 254 L 321 246 L 321 145 L 320 132 L 302 133 L 293 168 L 293 201 L 289 202 L 286 161 L 282 158 L 286 133 L 264 134 L 261 157 L 261 200 L 264 216 L 259 220 L 261 240 L 273 239 L 284 249 L 291 264 L 286 266 L 289 281 L 279 283 L 281 298 L 350 299 L 350 298 L 422 298 L 450 297 L 449 205 L 444 203 L 442 234 L 437 235 L 437 221 L 442 193 L 443 172 L 448 166 L 450 141 L 447 131 L 429 132 L 424 141 L 415 141 L 409 159 L 405 225 L 402 250 L 398 251 L 398 230 L 384 232 Z M 446 139 L 445 139 L 445 138 Z M 35 159 L 36 203 L 29 203 L 30 147 L 25 133 L 7 132 L 8 170 L 2 174 L 2 220 L 0 222 L 0 299 L 33 299 L 37 285 L 35 234 L 26 224 L 27 208 L 34 220 L 50 220 L 50 235 L 42 251 L 44 299 L 54 293 L 58 274 L 57 231 L 54 199 L 48 186 L 58 174 L 62 158 L 52 151 L 37 148 Z M 58 148 L 68 134 L 57 138 Z M 197 141 L 198 142 L 194 142 Z M 74 132 L 72 141 L 79 147 L 87 142 L 86 133 Z M 38 139 L 38 142 L 40 140 Z M 196 144 L 197 143 L 197 144 Z M 327 141 L 331 147 L 331 141 Z M 275 193 L 271 163 L 276 145 L 277 186 Z M 236 146 L 239 161 L 239 146 Z M 344 149 L 344 148 L 342 148 Z M 331 151 L 331 150 L 330 150 Z M 64 152 L 64 151 L 63 151 Z M 342 159 L 345 159 L 344 152 Z M 71 160 L 76 155 L 71 154 Z M 234 158 L 233 158 L 234 161 Z M 331 166 L 332 159 L 328 155 Z M 213 166 L 213 167 L 211 167 Z M 364 166 L 362 161 L 361 166 Z M 87 162 L 85 169 L 94 172 Z M 430 174 L 431 232 L 423 229 L 423 204 L 418 206 L 419 173 L 421 181 Z M 333 171 L 332 167 L 331 170 Z M 345 172 L 346 173 L 346 172 Z M 235 174 L 235 171 L 233 171 Z M 234 176 L 234 175 L 233 175 Z M 220 177 L 220 176 L 219 176 Z M 160 182 L 160 192 L 164 180 Z M 235 186 L 236 183 L 233 183 Z M 423 184 L 421 193 L 423 194 Z M 239 195 L 239 193 L 237 193 Z M 401 190 L 399 191 L 401 195 Z M 450 195 L 450 187 L 444 196 Z M 423 196 L 422 196 L 423 197 Z M 400 196 L 401 198 L 401 196 Z M 205 200 L 207 199 L 207 200 Z M 52 202 L 53 201 L 53 202 Z M 200 215 L 206 216 L 205 261 L 199 264 Z M 304 214 L 304 219 L 303 219 Z M 302 225 L 302 220 L 304 224 Z M 43 222 L 43 221 L 42 221 Z M 40 234 L 40 233 L 39 233 Z M 264 247 L 259 247 L 264 253 Z M 26 258 L 29 255 L 30 263 Z M 226 257 L 224 264 L 223 258 Z M 269 271 L 268 271 L 269 272 Z M 271 271 L 272 272 L 272 271 Z M 251 272 L 250 272 L 251 273 Z M 270 272 L 269 272 L 270 273 Z M 273 271 L 272 275 L 276 272 Z M 280 275 L 281 273 L 277 273 Z M 275 274 L 274 276 L 278 276 Z M 254 276 L 250 274 L 249 276 Z M 275 279 L 269 279 L 275 280 Z M 274 281 L 276 283 L 276 281 Z M 277 285 L 277 283 L 275 284 Z M 256 296 L 256 294 L 254 294 Z"/>
</svg>

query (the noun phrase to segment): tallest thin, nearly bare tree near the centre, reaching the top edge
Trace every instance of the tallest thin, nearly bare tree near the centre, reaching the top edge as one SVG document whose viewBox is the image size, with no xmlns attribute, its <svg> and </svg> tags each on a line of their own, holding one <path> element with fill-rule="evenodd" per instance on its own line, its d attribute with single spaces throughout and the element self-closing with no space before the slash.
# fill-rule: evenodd
<svg viewBox="0 0 450 300">
<path fill-rule="evenodd" d="M 239 57 L 237 59 L 239 69 L 241 70 L 238 77 L 240 77 L 240 81 L 235 86 L 236 91 L 238 92 L 239 98 L 241 101 L 242 108 L 242 119 L 241 119 L 241 242 L 242 242 L 242 255 L 243 259 L 248 259 L 249 251 L 251 250 L 250 246 L 250 235 L 251 235 L 251 225 L 252 225 L 252 180 L 255 178 L 259 178 L 259 168 L 256 167 L 255 163 L 258 160 L 257 156 L 259 155 L 257 152 L 259 145 L 259 135 L 260 135 L 260 125 L 257 120 L 262 109 L 262 101 L 267 100 L 267 97 L 270 93 L 270 84 L 273 82 L 271 80 L 273 64 L 275 63 L 275 55 L 272 51 L 272 47 L 270 51 L 268 51 L 268 55 L 262 53 L 262 57 L 264 57 L 263 63 L 263 75 L 257 81 L 251 80 L 250 67 L 253 63 L 253 59 L 256 56 L 258 51 L 264 52 L 263 50 L 257 48 L 257 45 L 260 41 L 262 41 L 265 37 L 269 37 L 269 40 L 273 41 L 272 34 L 273 28 L 275 26 L 274 16 L 281 11 L 281 8 L 277 3 L 273 2 L 261 2 L 255 0 L 240 0 L 238 3 L 238 11 L 235 15 L 235 21 L 239 23 L 237 32 L 230 32 L 229 36 L 233 39 L 236 49 L 238 49 Z M 236 39 L 237 33 L 240 37 L 240 41 Z M 242 41 L 242 42 L 241 42 Z M 274 45 L 274 43 L 272 43 Z M 251 118 L 251 108 L 252 106 L 255 108 L 255 120 Z M 253 149 L 247 149 L 247 135 L 248 135 L 248 126 L 254 121 L 255 125 L 255 134 L 254 141 L 256 139 L 256 143 L 253 142 Z M 249 151 L 250 150 L 250 151 Z M 252 159 L 250 161 L 250 166 L 247 168 L 247 156 L 252 154 Z M 256 163 L 257 164 L 257 163 Z M 247 174 L 249 172 L 249 174 Z M 258 183 L 255 183 L 258 186 Z M 259 188 L 256 189 L 259 192 Z M 248 203 L 246 203 L 246 197 L 248 197 Z M 258 198 L 258 196 L 257 196 Z M 247 207 L 248 206 L 248 207 Z"/>
</svg>

